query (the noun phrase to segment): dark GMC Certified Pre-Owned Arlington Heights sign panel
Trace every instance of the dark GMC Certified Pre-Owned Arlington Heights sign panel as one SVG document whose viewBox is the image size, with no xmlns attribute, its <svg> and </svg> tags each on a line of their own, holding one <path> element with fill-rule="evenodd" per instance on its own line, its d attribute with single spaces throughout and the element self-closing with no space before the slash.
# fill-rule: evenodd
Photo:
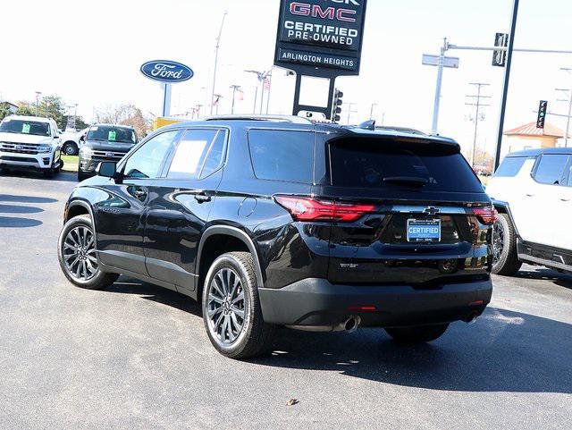
<svg viewBox="0 0 572 430">
<path fill-rule="evenodd" d="M 357 75 L 365 19 L 366 0 L 282 0 L 274 64 Z"/>
</svg>

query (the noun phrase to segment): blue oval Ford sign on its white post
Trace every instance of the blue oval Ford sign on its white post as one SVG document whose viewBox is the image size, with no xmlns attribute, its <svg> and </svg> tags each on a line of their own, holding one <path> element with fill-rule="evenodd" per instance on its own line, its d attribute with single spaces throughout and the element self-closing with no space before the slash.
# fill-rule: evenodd
<svg viewBox="0 0 572 430">
<path fill-rule="evenodd" d="M 195 74 L 189 66 L 169 60 L 149 61 L 141 65 L 140 71 L 148 79 L 162 83 L 163 99 L 161 112 L 163 117 L 171 114 L 172 84 L 189 80 Z"/>
</svg>

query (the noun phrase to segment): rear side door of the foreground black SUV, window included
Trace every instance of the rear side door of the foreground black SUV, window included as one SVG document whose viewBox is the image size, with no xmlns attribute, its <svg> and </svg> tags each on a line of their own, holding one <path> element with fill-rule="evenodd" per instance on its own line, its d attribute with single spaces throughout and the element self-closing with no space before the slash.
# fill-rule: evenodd
<svg viewBox="0 0 572 430">
<path fill-rule="evenodd" d="M 194 291 L 197 248 L 223 177 L 228 132 L 189 129 L 181 133 L 154 182 L 146 216 L 145 242 L 150 276 Z"/>
</svg>

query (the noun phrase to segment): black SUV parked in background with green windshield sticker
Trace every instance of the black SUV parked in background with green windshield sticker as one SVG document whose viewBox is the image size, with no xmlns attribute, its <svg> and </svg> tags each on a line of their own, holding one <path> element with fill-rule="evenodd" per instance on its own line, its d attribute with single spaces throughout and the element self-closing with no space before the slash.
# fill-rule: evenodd
<svg viewBox="0 0 572 430">
<path fill-rule="evenodd" d="M 85 138 L 80 138 L 78 181 L 96 174 L 102 161 L 118 162 L 138 142 L 132 127 L 114 124 L 96 124 L 89 127 Z"/>
</svg>

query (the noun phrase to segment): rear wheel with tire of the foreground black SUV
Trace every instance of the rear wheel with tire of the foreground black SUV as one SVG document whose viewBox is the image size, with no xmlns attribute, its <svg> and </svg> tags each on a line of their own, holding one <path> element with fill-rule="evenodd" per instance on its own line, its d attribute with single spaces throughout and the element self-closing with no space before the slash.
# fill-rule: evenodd
<svg viewBox="0 0 572 430">
<path fill-rule="evenodd" d="M 252 256 L 230 252 L 214 260 L 203 288 L 203 320 L 214 348 L 228 358 L 265 351 L 273 326 L 262 316 Z"/>
</svg>

